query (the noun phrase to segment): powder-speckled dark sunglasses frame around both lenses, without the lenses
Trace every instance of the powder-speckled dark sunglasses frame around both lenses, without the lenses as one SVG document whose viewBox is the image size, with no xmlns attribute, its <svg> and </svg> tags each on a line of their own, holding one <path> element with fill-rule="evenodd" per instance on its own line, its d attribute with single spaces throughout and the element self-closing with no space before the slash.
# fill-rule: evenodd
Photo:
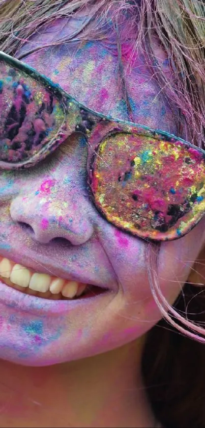
<svg viewBox="0 0 205 428">
<path fill-rule="evenodd" d="M 69 95 L 64 89 L 60 87 L 60 85 L 53 83 L 50 79 L 48 79 L 44 74 L 39 73 L 37 70 L 32 68 L 29 65 L 26 65 L 22 61 L 17 60 L 16 58 L 13 58 L 4 52 L 0 51 L 0 61 L 4 61 L 6 64 L 10 65 L 11 67 L 16 68 L 18 71 L 22 71 L 25 73 L 28 77 L 34 79 L 37 81 L 40 85 L 42 85 L 44 88 L 46 88 L 51 94 L 53 94 L 58 102 L 60 102 L 61 107 L 64 111 L 64 122 L 61 125 L 61 128 L 57 130 L 57 133 L 54 137 L 52 137 L 51 140 L 45 142 L 43 148 L 40 150 L 40 153 L 35 154 L 30 159 L 26 159 L 25 161 L 16 162 L 16 163 L 9 163 L 0 161 L 0 170 L 12 170 L 12 169 L 18 169 L 22 170 L 24 168 L 32 167 L 36 165 L 36 163 L 40 162 L 41 160 L 45 159 L 50 153 L 52 153 L 59 145 L 61 145 L 65 140 L 72 134 L 72 133 L 80 133 L 86 138 L 87 144 L 90 145 L 93 148 L 94 154 L 96 154 L 96 150 L 98 149 L 101 142 L 104 141 L 105 138 L 112 134 L 116 133 L 126 133 L 126 134 L 132 134 L 132 135 L 142 135 L 146 137 L 154 138 L 155 140 L 164 140 L 167 142 L 172 143 L 182 143 L 185 148 L 194 148 L 197 150 L 198 153 L 203 155 L 203 159 L 205 159 L 205 150 L 189 143 L 188 141 L 185 141 L 184 139 L 180 137 L 176 137 L 173 134 L 169 134 L 165 131 L 156 130 L 149 128 L 145 125 L 133 123 L 130 121 L 125 121 L 121 119 L 116 119 L 111 116 L 103 115 L 99 112 L 95 112 L 83 104 L 79 103 L 75 98 L 73 98 L 71 95 Z M 72 117 L 75 118 L 76 115 L 76 122 L 74 120 L 74 124 L 69 127 L 69 116 L 72 111 Z M 83 120 L 83 116 L 86 115 L 86 120 Z M 80 120 L 81 118 L 81 120 Z M 86 123 L 89 123 L 89 125 L 86 125 Z M 100 132 L 99 132 L 100 130 Z M 90 159 L 90 168 L 88 172 L 88 179 L 90 181 L 89 185 L 91 187 L 91 180 L 92 180 L 92 173 L 93 173 L 93 164 L 94 161 L 91 158 Z M 185 233 L 183 233 L 181 236 L 171 236 L 167 237 L 166 234 L 160 235 L 160 238 L 155 237 L 150 238 L 149 236 L 146 237 L 145 235 L 141 234 L 140 232 L 133 233 L 126 228 L 123 228 L 120 224 L 116 224 L 116 222 L 112 222 L 105 213 L 98 207 L 98 205 L 95 203 L 95 195 L 91 190 L 91 197 L 93 200 L 93 203 L 96 207 L 96 209 L 100 212 L 100 214 L 107 219 L 110 223 L 114 224 L 116 227 L 118 227 L 121 230 L 125 230 L 125 232 L 130 233 L 132 236 L 138 236 L 143 239 L 149 240 L 149 241 L 167 241 L 167 240 L 174 240 L 179 239 L 185 234 L 187 234 L 191 229 L 194 228 L 194 226 L 201 220 L 203 215 L 195 220 L 194 224 L 190 225 L 190 228 L 186 230 Z"/>
</svg>

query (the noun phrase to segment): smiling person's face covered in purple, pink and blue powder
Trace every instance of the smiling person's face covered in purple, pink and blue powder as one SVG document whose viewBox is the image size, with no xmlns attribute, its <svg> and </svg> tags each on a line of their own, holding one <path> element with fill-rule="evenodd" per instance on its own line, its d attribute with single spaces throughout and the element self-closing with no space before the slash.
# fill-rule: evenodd
<svg viewBox="0 0 205 428">
<path fill-rule="evenodd" d="M 60 24 L 33 42 L 46 38 L 49 44 Z M 156 53 L 171 79 L 157 43 Z M 129 120 L 116 79 L 117 56 L 115 45 L 105 41 L 44 48 L 23 61 L 92 110 Z M 143 55 L 132 55 L 131 41 L 123 45 L 122 57 L 133 121 L 176 134 L 176 109 L 162 96 Z M 97 212 L 86 163 L 87 146 L 74 133 L 35 167 L 1 173 L 1 256 L 33 273 L 89 284 L 91 291 L 53 300 L 0 284 L 0 358 L 23 365 L 81 359 L 139 338 L 161 318 L 148 278 L 149 244 Z M 180 293 L 203 240 L 201 220 L 185 237 L 160 244 L 159 284 L 169 303 Z M 40 276 L 36 282 L 42 282 Z"/>
</svg>

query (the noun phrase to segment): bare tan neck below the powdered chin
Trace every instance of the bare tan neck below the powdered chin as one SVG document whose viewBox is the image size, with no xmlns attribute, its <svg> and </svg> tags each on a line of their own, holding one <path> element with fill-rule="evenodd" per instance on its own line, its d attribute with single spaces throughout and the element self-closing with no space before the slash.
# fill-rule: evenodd
<svg viewBox="0 0 205 428">
<path fill-rule="evenodd" d="M 0 425 L 154 425 L 140 371 L 143 340 L 106 354 L 49 367 L 1 361 Z"/>
</svg>

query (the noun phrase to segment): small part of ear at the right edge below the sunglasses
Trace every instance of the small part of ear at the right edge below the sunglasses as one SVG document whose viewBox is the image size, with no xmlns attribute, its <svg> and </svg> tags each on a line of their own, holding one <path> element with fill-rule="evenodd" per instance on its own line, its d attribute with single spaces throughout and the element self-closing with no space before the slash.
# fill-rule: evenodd
<svg viewBox="0 0 205 428">
<path fill-rule="evenodd" d="M 205 246 L 200 250 L 191 268 L 187 282 L 199 287 L 205 285 Z"/>
</svg>

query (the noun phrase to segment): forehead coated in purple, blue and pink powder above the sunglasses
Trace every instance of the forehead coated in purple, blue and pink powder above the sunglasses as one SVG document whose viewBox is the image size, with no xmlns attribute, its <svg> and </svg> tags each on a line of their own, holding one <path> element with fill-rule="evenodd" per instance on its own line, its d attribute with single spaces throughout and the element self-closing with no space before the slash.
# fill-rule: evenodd
<svg viewBox="0 0 205 428">
<path fill-rule="evenodd" d="M 75 31 L 78 20 L 73 19 L 67 31 Z M 80 23 L 79 23 L 80 24 Z M 62 30 L 63 29 L 63 30 Z M 109 115 L 113 118 L 130 120 L 122 86 L 125 82 L 126 93 L 132 109 L 132 120 L 151 128 L 161 129 L 175 134 L 177 123 L 174 121 L 172 109 L 167 103 L 147 66 L 143 52 L 137 52 L 131 39 L 125 38 L 121 45 L 121 69 L 124 82 L 119 73 L 119 49 L 116 39 L 103 41 L 76 41 L 59 43 L 57 41 L 66 32 L 66 24 L 58 20 L 41 30 L 27 43 L 19 55 L 26 55 L 23 61 L 45 74 L 53 82 L 59 84 L 71 96 L 90 109 Z M 47 44 L 47 47 L 43 47 Z M 31 53 L 34 46 L 42 46 Z M 156 57 L 166 75 L 171 72 L 165 53 L 157 46 Z M 157 66 L 157 63 L 155 63 Z"/>
</svg>

